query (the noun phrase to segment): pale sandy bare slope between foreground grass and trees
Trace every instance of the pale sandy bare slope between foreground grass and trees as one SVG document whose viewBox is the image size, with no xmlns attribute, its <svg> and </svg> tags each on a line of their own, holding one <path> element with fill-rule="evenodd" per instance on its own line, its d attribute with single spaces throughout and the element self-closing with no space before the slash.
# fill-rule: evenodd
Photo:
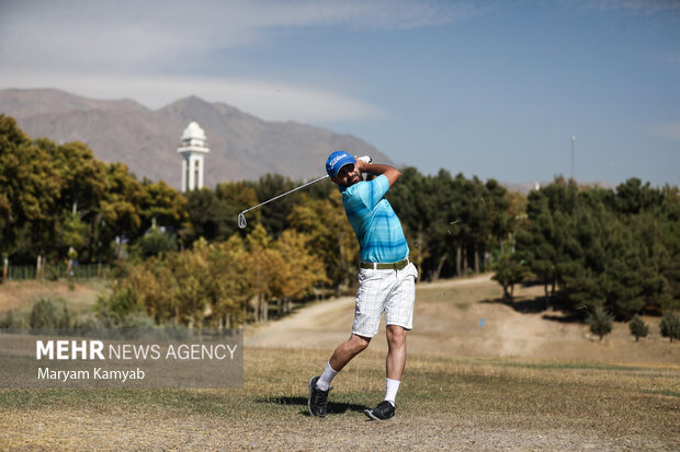
<svg viewBox="0 0 680 452">
<path fill-rule="evenodd" d="M 481 300 L 480 293 L 485 295 Z M 518 287 L 515 303 L 542 294 L 542 287 Z M 490 275 L 418 285 L 413 331 L 407 340 L 409 354 L 680 363 L 680 347 L 660 336 L 658 318 L 645 318 L 650 333 L 639 343 L 623 323 L 615 324 L 600 341 L 587 325 L 566 322 L 563 313 L 518 312 L 499 302 L 500 297 L 501 288 Z M 332 350 L 349 337 L 353 315 L 353 297 L 319 302 L 247 332 L 245 345 Z M 383 332 L 384 325 L 372 340 L 372 350 L 386 350 Z"/>
</svg>

